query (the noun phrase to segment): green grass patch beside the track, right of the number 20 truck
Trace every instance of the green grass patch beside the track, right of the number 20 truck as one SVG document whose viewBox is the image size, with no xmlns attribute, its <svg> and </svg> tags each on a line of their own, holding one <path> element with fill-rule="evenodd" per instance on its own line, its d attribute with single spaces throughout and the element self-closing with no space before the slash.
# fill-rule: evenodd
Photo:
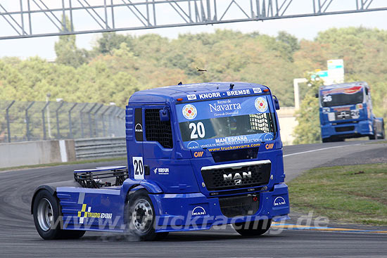
<svg viewBox="0 0 387 258">
<path fill-rule="evenodd" d="M 288 186 L 293 210 L 387 226 L 386 163 L 311 169 Z"/>
</svg>

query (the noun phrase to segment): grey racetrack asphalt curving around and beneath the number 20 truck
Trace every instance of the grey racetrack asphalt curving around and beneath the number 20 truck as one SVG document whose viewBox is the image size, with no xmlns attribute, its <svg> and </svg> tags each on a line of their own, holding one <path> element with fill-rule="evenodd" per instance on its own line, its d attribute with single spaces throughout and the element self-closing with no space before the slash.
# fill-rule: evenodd
<svg viewBox="0 0 387 258">
<path fill-rule="evenodd" d="M 369 141 L 286 146 L 286 181 L 312 167 L 383 160 L 386 144 L 366 143 Z M 387 257 L 387 234 L 350 230 L 283 230 L 277 226 L 258 238 L 243 238 L 227 226 L 221 230 L 170 233 L 164 240 L 154 242 L 136 242 L 122 234 L 98 232 L 87 232 L 79 240 L 42 240 L 30 214 L 34 188 L 42 183 L 71 180 L 74 169 L 108 165 L 126 164 L 125 161 L 115 161 L 0 172 L 0 256 Z M 291 215 L 293 219 L 286 223 L 296 223 L 296 218 L 300 216 Z M 336 224 L 328 226 L 338 227 Z M 340 227 L 370 228 L 357 225 Z M 386 227 L 372 229 L 387 230 Z"/>
</svg>

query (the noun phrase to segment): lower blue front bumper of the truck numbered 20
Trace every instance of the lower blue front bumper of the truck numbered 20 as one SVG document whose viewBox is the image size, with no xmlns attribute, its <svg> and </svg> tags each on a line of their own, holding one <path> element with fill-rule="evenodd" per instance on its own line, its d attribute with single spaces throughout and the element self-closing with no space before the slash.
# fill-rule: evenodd
<svg viewBox="0 0 387 258">
<path fill-rule="evenodd" d="M 219 198 L 203 193 L 150 195 L 156 211 L 156 232 L 205 230 L 212 226 L 260 219 L 286 219 L 290 211 L 288 186 L 274 185 L 273 191 L 255 193 L 259 200 L 255 214 L 226 217 Z"/>
</svg>

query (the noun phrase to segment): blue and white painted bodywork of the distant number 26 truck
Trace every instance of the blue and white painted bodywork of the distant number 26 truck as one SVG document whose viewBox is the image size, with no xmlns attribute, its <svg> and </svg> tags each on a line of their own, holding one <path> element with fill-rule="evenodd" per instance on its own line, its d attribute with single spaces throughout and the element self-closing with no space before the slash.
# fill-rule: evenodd
<svg viewBox="0 0 387 258">
<path fill-rule="evenodd" d="M 319 108 L 319 120 L 321 127 L 322 138 L 330 137 L 361 137 L 361 136 L 373 136 L 375 134 L 381 134 L 383 118 L 377 118 L 372 112 L 372 100 L 369 86 L 366 82 L 352 82 L 346 84 L 336 84 L 330 86 L 323 86 L 319 90 L 319 100 L 321 103 L 322 92 L 326 90 L 332 90 L 337 87 L 350 87 L 350 86 L 362 86 L 360 91 L 363 93 L 362 108 L 358 105 L 337 105 L 329 108 L 323 108 L 320 105 Z M 369 98 L 365 93 L 365 89 L 369 89 Z M 329 121 L 329 112 L 339 112 L 341 110 L 358 110 L 359 117 L 348 118 L 345 120 L 331 120 Z M 341 127 L 353 127 L 353 130 L 340 131 Z M 336 131 L 336 130 L 339 131 Z"/>
</svg>

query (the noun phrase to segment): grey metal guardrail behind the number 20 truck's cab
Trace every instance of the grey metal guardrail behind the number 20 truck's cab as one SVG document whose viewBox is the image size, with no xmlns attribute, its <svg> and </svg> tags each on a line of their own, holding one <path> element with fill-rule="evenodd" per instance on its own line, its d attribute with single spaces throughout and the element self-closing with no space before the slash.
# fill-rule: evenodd
<svg viewBox="0 0 387 258">
<path fill-rule="evenodd" d="M 125 137 L 76 139 L 74 143 L 77 160 L 127 155 Z"/>
</svg>

